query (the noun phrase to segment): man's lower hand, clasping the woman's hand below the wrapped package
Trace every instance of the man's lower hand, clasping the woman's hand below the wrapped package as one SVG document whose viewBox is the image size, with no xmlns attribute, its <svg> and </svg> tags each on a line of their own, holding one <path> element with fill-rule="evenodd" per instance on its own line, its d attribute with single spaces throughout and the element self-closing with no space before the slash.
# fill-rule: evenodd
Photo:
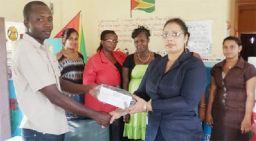
<svg viewBox="0 0 256 141">
<path fill-rule="evenodd" d="M 94 120 L 96 120 L 96 122 L 104 127 L 109 125 L 109 121 L 110 121 L 111 115 L 106 113 L 106 112 L 102 112 L 102 111 L 98 111 L 96 115 L 94 115 Z"/>
</svg>

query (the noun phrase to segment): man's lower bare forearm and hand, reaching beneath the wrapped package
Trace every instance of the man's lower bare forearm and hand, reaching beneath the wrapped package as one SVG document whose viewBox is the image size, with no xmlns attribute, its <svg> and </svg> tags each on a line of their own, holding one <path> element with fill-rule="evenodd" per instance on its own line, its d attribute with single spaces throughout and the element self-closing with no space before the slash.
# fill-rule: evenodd
<svg viewBox="0 0 256 141">
<path fill-rule="evenodd" d="M 70 85 L 70 87 L 72 87 L 72 85 Z M 43 95 L 45 95 L 45 97 L 47 97 L 51 103 L 65 109 L 66 111 L 71 111 L 76 115 L 93 118 L 96 120 L 96 122 L 98 122 L 98 124 L 103 126 L 108 126 L 109 124 L 111 116 L 108 113 L 94 111 L 93 109 L 84 107 L 84 105 L 81 105 L 68 97 L 68 95 L 61 93 L 55 84 L 43 87 L 39 91 L 41 91 L 41 93 L 43 93 Z"/>
</svg>

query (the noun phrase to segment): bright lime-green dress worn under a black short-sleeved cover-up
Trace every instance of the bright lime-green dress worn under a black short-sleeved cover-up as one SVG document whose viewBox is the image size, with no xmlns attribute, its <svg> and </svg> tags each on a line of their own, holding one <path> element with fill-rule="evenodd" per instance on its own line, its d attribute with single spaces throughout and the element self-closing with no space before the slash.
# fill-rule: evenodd
<svg viewBox="0 0 256 141">
<path fill-rule="evenodd" d="M 129 92 L 134 93 L 142 81 L 148 65 L 136 65 L 131 73 L 131 79 L 129 83 Z M 124 124 L 124 136 L 128 136 L 129 139 L 142 139 L 145 140 L 146 134 L 146 118 L 148 113 L 136 113 L 130 115 L 130 122 Z"/>
</svg>

